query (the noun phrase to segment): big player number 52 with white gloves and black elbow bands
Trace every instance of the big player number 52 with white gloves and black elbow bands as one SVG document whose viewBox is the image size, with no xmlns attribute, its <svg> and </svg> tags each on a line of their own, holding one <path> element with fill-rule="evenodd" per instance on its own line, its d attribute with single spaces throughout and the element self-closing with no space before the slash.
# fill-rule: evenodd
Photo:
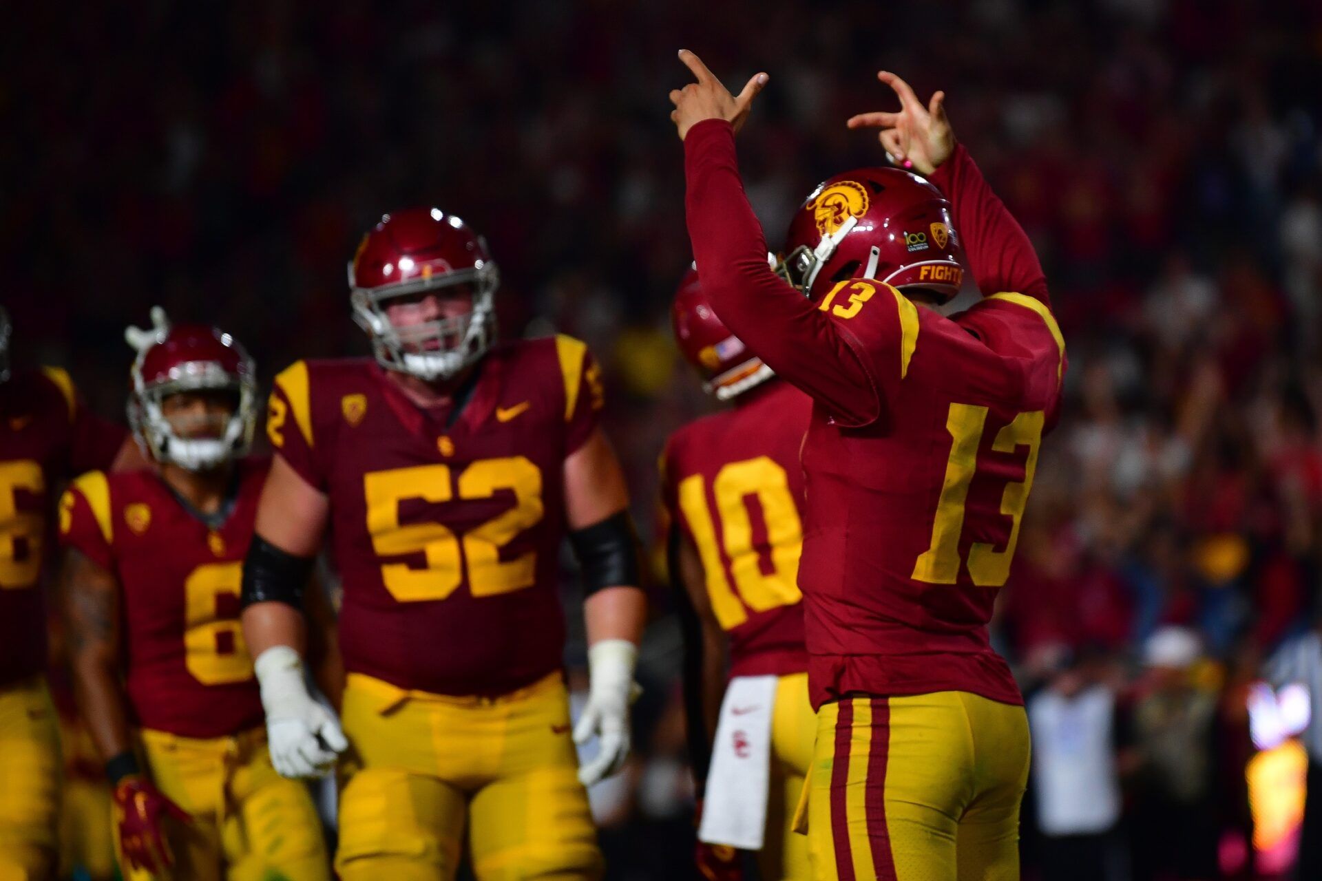
<svg viewBox="0 0 1322 881">
<path fill-rule="evenodd" d="M 496 342 L 497 269 L 439 209 L 389 214 L 349 264 L 375 359 L 296 362 L 271 395 L 275 461 L 243 569 L 276 767 L 341 765 L 345 881 L 449 878 L 465 826 L 498 878 L 602 870 L 584 785 L 628 752 L 645 612 L 637 540 L 570 337 Z M 303 573 L 330 527 L 344 733 L 297 652 Z M 583 567 L 590 697 L 574 737 L 558 559 Z M 600 736 L 578 769 L 574 741 Z"/>
</svg>

